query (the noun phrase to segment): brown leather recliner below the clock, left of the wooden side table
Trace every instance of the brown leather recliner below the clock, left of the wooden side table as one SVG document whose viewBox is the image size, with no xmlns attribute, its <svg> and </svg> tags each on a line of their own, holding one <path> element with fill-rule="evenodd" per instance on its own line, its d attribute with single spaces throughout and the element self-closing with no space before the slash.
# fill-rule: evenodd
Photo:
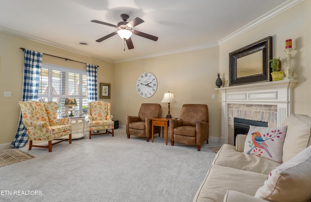
<svg viewBox="0 0 311 202">
<path fill-rule="evenodd" d="M 151 137 L 151 120 L 150 118 L 161 117 L 161 105 L 153 103 L 142 103 L 138 116 L 126 116 L 126 134 L 146 137 L 147 142 Z M 160 134 L 161 128 L 155 126 L 154 134 Z"/>
</svg>

